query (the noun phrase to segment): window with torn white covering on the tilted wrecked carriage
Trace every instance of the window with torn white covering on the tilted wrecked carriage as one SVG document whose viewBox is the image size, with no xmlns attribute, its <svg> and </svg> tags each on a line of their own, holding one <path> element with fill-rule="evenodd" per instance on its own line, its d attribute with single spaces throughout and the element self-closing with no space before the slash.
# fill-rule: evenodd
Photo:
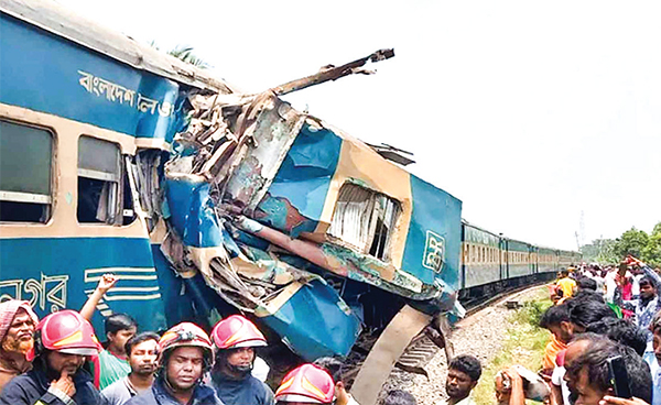
<svg viewBox="0 0 661 405">
<path fill-rule="evenodd" d="M 345 184 L 339 189 L 328 232 L 362 253 L 390 259 L 390 241 L 401 212 L 400 204 L 383 194 Z"/>
</svg>

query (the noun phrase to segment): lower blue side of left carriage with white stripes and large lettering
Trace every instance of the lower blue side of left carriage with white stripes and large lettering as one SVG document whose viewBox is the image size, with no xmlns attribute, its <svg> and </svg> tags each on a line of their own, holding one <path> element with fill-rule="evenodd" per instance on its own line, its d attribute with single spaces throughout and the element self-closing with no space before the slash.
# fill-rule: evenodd
<svg viewBox="0 0 661 405">
<path fill-rule="evenodd" d="M 159 330 L 166 326 L 148 239 L 0 239 L 0 298 L 15 298 L 20 292 L 23 299 L 32 302 L 40 317 L 54 309 L 79 310 L 87 300 L 85 292 L 91 293 L 96 288 L 104 269 L 113 269 L 112 272 L 120 276 L 118 288 L 108 292 L 102 304 L 113 313 L 131 314 L 142 330 Z M 141 299 L 154 295 L 154 298 Z M 136 310 L 138 306 L 140 310 Z M 99 311 L 95 313 L 93 325 L 97 332 L 104 330 L 104 317 Z"/>
</svg>

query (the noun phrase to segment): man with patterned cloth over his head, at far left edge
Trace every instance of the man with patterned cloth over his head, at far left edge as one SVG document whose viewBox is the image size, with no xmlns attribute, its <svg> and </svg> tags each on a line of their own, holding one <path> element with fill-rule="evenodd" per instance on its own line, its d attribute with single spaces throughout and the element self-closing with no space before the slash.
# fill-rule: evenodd
<svg viewBox="0 0 661 405">
<path fill-rule="evenodd" d="M 34 343 L 32 335 L 37 322 L 26 300 L 0 304 L 0 393 L 11 379 L 32 368 L 25 353 Z"/>
</svg>

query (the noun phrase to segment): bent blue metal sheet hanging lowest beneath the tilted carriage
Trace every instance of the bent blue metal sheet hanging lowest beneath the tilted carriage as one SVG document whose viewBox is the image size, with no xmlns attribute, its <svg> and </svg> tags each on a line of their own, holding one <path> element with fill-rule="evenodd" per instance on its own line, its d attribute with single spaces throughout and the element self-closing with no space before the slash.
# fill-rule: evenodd
<svg viewBox="0 0 661 405">
<path fill-rule="evenodd" d="M 360 321 L 335 289 L 313 281 L 273 315 L 261 318 L 306 361 L 346 355 L 358 339 Z"/>
</svg>

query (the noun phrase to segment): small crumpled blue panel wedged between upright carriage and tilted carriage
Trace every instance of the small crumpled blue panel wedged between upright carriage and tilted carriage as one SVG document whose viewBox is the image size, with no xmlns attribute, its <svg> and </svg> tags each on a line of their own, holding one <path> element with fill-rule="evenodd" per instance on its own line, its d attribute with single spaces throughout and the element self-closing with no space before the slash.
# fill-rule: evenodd
<svg viewBox="0 0 661 405">
<path fill-rule="evenodd" d="M 172 226 L 187 247 L 223 245 L 223 230 L 209 196 L 210 185 L 204 180 L 167 178 L 165 195 Z"/>
</svg>

